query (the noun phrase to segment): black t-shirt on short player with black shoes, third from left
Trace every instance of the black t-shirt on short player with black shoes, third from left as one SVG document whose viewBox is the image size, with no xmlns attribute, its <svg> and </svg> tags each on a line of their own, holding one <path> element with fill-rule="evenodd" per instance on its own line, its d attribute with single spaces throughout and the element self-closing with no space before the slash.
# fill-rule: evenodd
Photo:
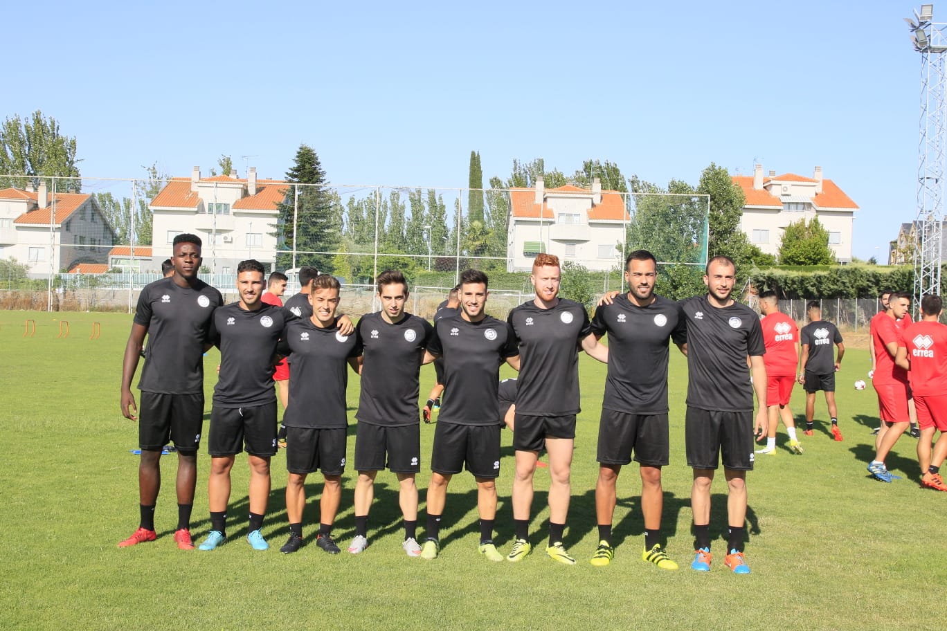
<svg viewBox="0 0 947 631">
<path fill-rule="evenodd" d="M 362 352 L 357 337 L 342 335 L 335 325 L 319 328 L 304 318 L 286 324 L 279 352 L 289 355 L 290 364 L 290 398 L 283 425 L 312 429 L 348 427 L 348 359 Z"/>
</svg>

